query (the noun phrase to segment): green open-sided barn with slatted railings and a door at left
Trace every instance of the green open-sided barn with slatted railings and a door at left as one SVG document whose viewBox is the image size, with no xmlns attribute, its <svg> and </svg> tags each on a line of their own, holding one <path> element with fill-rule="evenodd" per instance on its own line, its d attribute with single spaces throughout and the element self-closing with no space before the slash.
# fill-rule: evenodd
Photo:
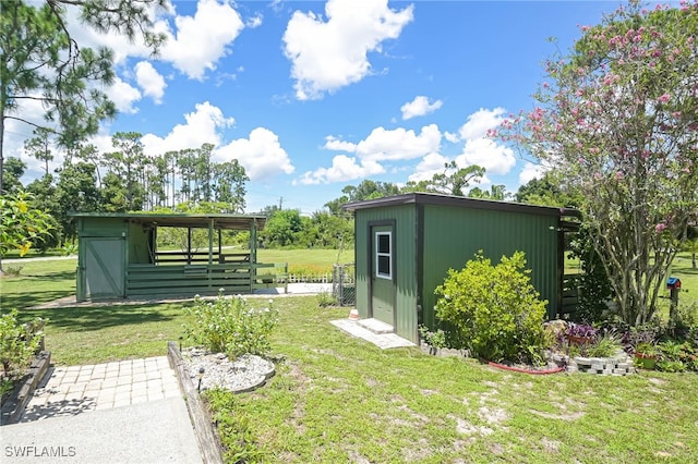
<svg viewBox="0 0 698 464">
<path fill-rule="evenodd" d="M 253 215 L 151 215 L 74 213 L 77 221 L 79 255 L 76 300 L 113 300 L 163 295 L 252 293 L 268 284 L 258 278 L 256 236 L 266 216 Z M 186 248 L 157 249 L 161 228 L 189 231 Z M 192 231 L 208 232 L 208 246 L 192 247 Z M 250 251 L 227 253 L 221 247 L 222 230 L 250 232 Z M 218 240 L 216 241 L 216 234 Z M 215 243 L 217 242 L 217 245 Z"/>
</svg>

